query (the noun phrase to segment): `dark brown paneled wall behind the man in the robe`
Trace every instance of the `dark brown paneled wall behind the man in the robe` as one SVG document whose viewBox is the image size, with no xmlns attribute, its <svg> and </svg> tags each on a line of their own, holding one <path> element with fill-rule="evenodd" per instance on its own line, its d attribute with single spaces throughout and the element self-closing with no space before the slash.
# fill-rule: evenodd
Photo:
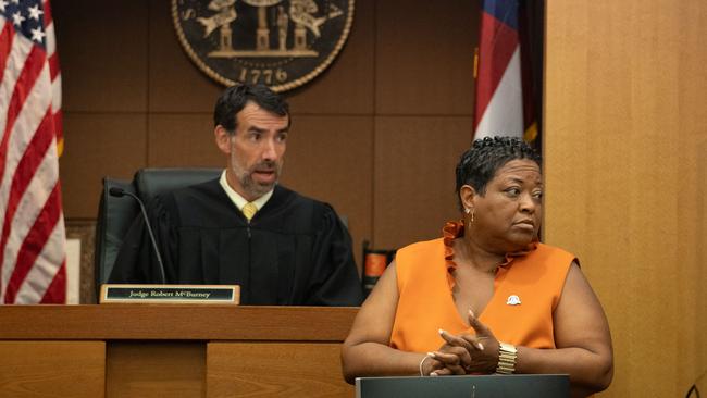
<svg viewBox="0 0 707 398">
<path fill-rule="evenodd" d="M 169 0 L 54 0 L 64 89 L 65 216 L 96 217 L 101 177 L 224 166 L 212 138 L 223 87 L 188 59 Z M 477 4 L 357 0 L 348 42 L 287 92 L 283 184 L 332 203 L 363 239 L 394 248 L 457 216 L 454 166 L 470 145 Z M 360 258 L 358 258 L 360 263 Z"/>
</svg>

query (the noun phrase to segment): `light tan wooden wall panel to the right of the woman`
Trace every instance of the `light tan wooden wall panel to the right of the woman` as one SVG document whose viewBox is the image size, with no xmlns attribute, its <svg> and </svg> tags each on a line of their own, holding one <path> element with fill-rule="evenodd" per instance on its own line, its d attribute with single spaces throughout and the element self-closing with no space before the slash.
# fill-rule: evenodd
<svg viewBox="0 0 707 398">
<path fill-rule="evenodd" d="M 603 397 L 684 397 L 707 371 L 707 3 L 547 2 L 545 238 L 611 326 Z"/>
</svg>

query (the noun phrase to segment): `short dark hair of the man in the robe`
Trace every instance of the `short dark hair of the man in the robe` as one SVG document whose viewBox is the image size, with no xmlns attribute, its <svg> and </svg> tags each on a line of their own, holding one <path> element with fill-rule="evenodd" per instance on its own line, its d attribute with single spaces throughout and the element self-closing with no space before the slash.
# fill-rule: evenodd
<svg viewBox="0 0 707 398">
<path fill-rule="evenodd" d="M 248 102 L 253 102 L 278 116 L 289 115 L 289 105 L 285 99 L 268 86 L 240 84 L 226 88 L 216 100 L 213 110 L 214 127 L 222 125 L 228 133 L 234 134 L 237 127 L 236 115 Z"/>
</svg>

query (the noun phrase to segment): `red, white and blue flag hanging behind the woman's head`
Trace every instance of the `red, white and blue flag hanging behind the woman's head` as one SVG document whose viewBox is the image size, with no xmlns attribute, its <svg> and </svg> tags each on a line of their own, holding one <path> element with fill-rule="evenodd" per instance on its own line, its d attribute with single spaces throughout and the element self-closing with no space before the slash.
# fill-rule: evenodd
<svg viewBox="0 0 707 398">
<path fill-rule="evenodd" d="M 519 0 L 483 0 L 474 138 L 523 137 Z"/>
</svg>

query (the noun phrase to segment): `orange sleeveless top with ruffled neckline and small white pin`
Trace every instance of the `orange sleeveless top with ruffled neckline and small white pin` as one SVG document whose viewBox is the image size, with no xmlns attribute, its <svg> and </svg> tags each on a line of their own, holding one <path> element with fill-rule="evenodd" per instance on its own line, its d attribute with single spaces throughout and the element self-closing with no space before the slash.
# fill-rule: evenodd
<svg viewBox="0 0 707 398">
<path fill-rule="evenodd" d="M 437 350 L 445 341 L 437 329 L 473 334 L 468 320 L 457 312 L 451 289 L 451 241 L 463 234 L 460 223 L 449 222 L 444 238 L 398 250 L 396 271 L 399 301 L 390 334 L 390 347 L 404 351 Z M 532 348 L 555 348 L 553 311 L 575 257 L 565 250 L 533 242 L 528 250 L 506 256 L 494 282 L 494 296 L 481 314 L 482 323 L 500 341 Z"/>
</svg>

